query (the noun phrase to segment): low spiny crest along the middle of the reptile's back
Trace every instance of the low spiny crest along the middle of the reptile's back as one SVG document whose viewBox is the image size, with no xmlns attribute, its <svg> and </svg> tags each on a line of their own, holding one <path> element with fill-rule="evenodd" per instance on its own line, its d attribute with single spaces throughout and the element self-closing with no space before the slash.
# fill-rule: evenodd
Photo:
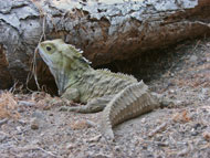
<svg viewBox="0 0 210 158">
<path fill-rule="evenodd" d="M 124 74 L 124 73 L 113 73 L 113 72 L 111 72 L 107 69 L 102 69 L 102 70 L 97 70 L 97 71 L 101 72 L 101 73 L 103 73 L 103 74 L 109 75 L 109 76 L 114 76 L 114 77 L 119 77 L 119 78 L 123 78 L 123 80 L 128 80 L 128 81 L 137 82 L 137 80 L 133 75 L 127 75 L 127 74 Z"/>
</svg>

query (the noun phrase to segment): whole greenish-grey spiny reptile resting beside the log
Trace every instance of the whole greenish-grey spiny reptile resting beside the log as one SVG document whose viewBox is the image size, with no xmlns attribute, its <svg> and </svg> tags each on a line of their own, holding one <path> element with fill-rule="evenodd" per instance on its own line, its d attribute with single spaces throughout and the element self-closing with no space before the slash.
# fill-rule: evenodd
<svg viewBox="0 0 210 158">
<path fill-rule="evenodd" d="M 159 106 L 143 82 L 129 75 L 92 69 L 82 51 L 62 40 L 40 43 L 39 52 L 55 78 L 60 95 L 86 104 L 62 107 L 63 110 L 95 113 L 106 107 L 101 118 L 101 130 L 106 137 L 114 138 L 113 126 Z"/>
</svg>

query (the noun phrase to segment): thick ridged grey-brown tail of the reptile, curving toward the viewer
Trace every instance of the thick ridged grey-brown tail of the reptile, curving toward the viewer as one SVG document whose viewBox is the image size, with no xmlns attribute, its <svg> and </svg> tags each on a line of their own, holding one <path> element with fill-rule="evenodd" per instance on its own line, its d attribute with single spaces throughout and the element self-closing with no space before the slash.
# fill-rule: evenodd
<svg viewBox="0 0 210 158">
<path fill-rule="evenodd" d="M 143 82 L 134 83 L 119 92 L 103 110 L 99 123 L 102 135 L 114 139 L 112 127 L 159 106 Z"/>
</svg>

